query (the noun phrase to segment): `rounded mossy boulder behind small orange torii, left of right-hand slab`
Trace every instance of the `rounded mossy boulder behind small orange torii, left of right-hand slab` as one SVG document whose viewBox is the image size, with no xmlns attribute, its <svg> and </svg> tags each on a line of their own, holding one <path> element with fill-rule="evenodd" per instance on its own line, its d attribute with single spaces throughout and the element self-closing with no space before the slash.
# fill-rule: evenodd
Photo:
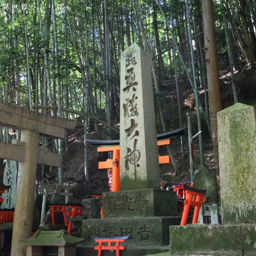
<svg viewBox="0 0 256 256">
<path fill-rule="evenodd" d="M 219 201 L 219 187 L 216 179 L 212 176 L 210 171 L 202 166 L 193 176 L 193 187 L 195 189 L 207 190 L 207 203 L 218 203 Z"/>
</svg>

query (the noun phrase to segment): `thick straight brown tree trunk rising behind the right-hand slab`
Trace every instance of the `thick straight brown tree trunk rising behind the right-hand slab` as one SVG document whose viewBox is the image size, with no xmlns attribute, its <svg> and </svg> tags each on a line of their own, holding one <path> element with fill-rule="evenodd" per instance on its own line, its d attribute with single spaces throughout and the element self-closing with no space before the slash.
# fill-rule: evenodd
<svg viewBox="0 0 256 256">
<path fill-rule="evenodd" d="M 216 179 L 219 184 L 217 112 L 221 111 L 221 97 L 212 0 L 202 0 L 202 16 L 204 30 L 204 50 L 206 58 L 209 95 L 209 113 L 212 131 L 212 144 L 216 163 Z"/>
</svg>

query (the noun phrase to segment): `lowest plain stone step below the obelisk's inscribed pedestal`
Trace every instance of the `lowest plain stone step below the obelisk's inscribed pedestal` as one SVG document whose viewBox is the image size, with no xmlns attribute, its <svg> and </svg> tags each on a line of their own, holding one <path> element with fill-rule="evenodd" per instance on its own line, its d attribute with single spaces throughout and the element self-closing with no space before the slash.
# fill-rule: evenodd
<svg viewBox="0 0 256 256">
<path fill-rule="evenodd" d="M 169 246 L 126 245 L 126 242 L 122 245 L 124 250 L 120 251 L 120 256 L 142 256 L 170 251 Z M 94 250 L 94 245 L 78 244 L 76 247 L 76 256 L 97 256 L 97 252 Z M 113 255 L 115 255 L 113 251 L 102 251 L 102 256 Z"/>
</svg>

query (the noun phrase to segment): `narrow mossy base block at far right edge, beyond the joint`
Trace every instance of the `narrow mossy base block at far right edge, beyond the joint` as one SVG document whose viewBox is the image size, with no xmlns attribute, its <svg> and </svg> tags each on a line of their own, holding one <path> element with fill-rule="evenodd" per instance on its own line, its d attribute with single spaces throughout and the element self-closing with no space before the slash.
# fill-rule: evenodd
<svg viewBox="0 0 256 256">
<path fill-rule="evenodd" d="M 245 256 L 256 255 L 256 225 L 242 224 L 241 225 L 243 252 Z"/>
</svg>

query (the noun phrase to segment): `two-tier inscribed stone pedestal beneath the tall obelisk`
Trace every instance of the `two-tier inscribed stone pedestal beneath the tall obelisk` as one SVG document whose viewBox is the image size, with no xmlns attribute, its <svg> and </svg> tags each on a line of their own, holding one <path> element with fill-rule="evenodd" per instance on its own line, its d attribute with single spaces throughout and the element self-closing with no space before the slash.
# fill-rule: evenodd
<svg viewBox="0 0 256 256">
<path fill-rule="evenodd" d="M 82 222 L 85 244 L 92 237 L 129 235 L 124 245 L 169 244 L 169 226 L 180 225 L 177 195 L 173 191 L 144 189 L 103 193 L 103 219 Z"/>
</svg>

